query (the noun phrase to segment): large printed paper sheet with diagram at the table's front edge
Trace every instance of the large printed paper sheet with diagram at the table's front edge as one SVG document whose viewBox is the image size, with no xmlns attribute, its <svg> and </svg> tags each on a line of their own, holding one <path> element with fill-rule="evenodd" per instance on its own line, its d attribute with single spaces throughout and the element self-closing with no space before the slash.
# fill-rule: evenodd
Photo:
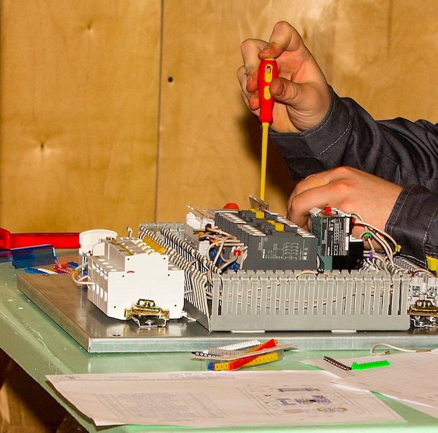
<svg viewBox="0 0 438 433">
<path fill-rule="evenodd" d="M 221 427 L 395 423 L 370 392 L 327 371 L 183 371 L 47 376 L 96 425 Z"/>
</svg>

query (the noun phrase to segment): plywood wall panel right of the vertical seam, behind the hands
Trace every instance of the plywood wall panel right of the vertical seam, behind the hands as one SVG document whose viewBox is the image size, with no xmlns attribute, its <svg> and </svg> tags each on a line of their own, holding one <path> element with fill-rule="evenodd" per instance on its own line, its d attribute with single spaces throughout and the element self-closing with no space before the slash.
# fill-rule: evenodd
<svg viewBox="0 0 438 433">
<path fill-rule="evenodd" d="M 196 4 L 196 7 L 193 7 Z M 241 104 L 235 69 L 244 38 L 269 38 L 287 20 L 327 80 L 376 118 L 436 121 L 435 2 L 164 2 L 157 215 L 183 218 L 186 204 L 247 206 L 258 193 L 260 131 Z M 173 80 L 167 82 L 167 77 Z M 269 148 L 267 201 L 283 212 L 292 185 Z"/>
</svg>

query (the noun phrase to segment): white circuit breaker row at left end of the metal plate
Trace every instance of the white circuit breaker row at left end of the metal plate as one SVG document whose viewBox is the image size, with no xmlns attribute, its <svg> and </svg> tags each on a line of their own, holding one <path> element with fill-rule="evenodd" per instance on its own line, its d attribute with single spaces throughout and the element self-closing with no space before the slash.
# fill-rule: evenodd
<svg viewBox="0 0 438 433">
<path fill-rule="evenodd" d="M 97 239 L 90 251 L 81 251 L 87 269 L 87 297 L 109 317 L 125 320 L 126 312 L 139 299 L 153 300 L 169 310 L 170 319 L 182 317 L 184 271 L 170 262 L 165 249 L 152 239 Z"/>
</svg>

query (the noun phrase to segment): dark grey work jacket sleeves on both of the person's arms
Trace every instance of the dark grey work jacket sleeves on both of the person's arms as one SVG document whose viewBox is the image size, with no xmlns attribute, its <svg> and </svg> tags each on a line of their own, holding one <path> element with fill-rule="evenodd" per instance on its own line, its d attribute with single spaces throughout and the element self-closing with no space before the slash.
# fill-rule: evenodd
<svg viewBox="0 0 438 433">
<path fill-rule="evenodd" d="M 397 183 L 386 230 L 401 253 L 425 265 L 438 259 L 438 127 L 425 120 L 376 122 L 355 101 L 332 90 L 330 109 L 319 125 L 302 133 L 270 133 L 293 180 L 353 166 Z"/>
</svg>

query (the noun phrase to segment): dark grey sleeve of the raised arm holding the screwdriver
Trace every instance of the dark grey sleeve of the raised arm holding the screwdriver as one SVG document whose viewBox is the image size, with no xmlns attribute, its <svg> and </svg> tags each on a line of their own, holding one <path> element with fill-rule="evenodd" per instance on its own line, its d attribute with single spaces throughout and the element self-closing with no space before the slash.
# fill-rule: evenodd
<svg viewBox="0 0 438 433">
<path fill-rule="evenodd" d="M 294 180 L 353 166 L 402 186 L 414 183 L 438 191 L 436 125 L 376 122 L 355 101 L 331 92 L 330 109 L 319 125 L 302 133 L 270 133 Z"/>
</svg>

